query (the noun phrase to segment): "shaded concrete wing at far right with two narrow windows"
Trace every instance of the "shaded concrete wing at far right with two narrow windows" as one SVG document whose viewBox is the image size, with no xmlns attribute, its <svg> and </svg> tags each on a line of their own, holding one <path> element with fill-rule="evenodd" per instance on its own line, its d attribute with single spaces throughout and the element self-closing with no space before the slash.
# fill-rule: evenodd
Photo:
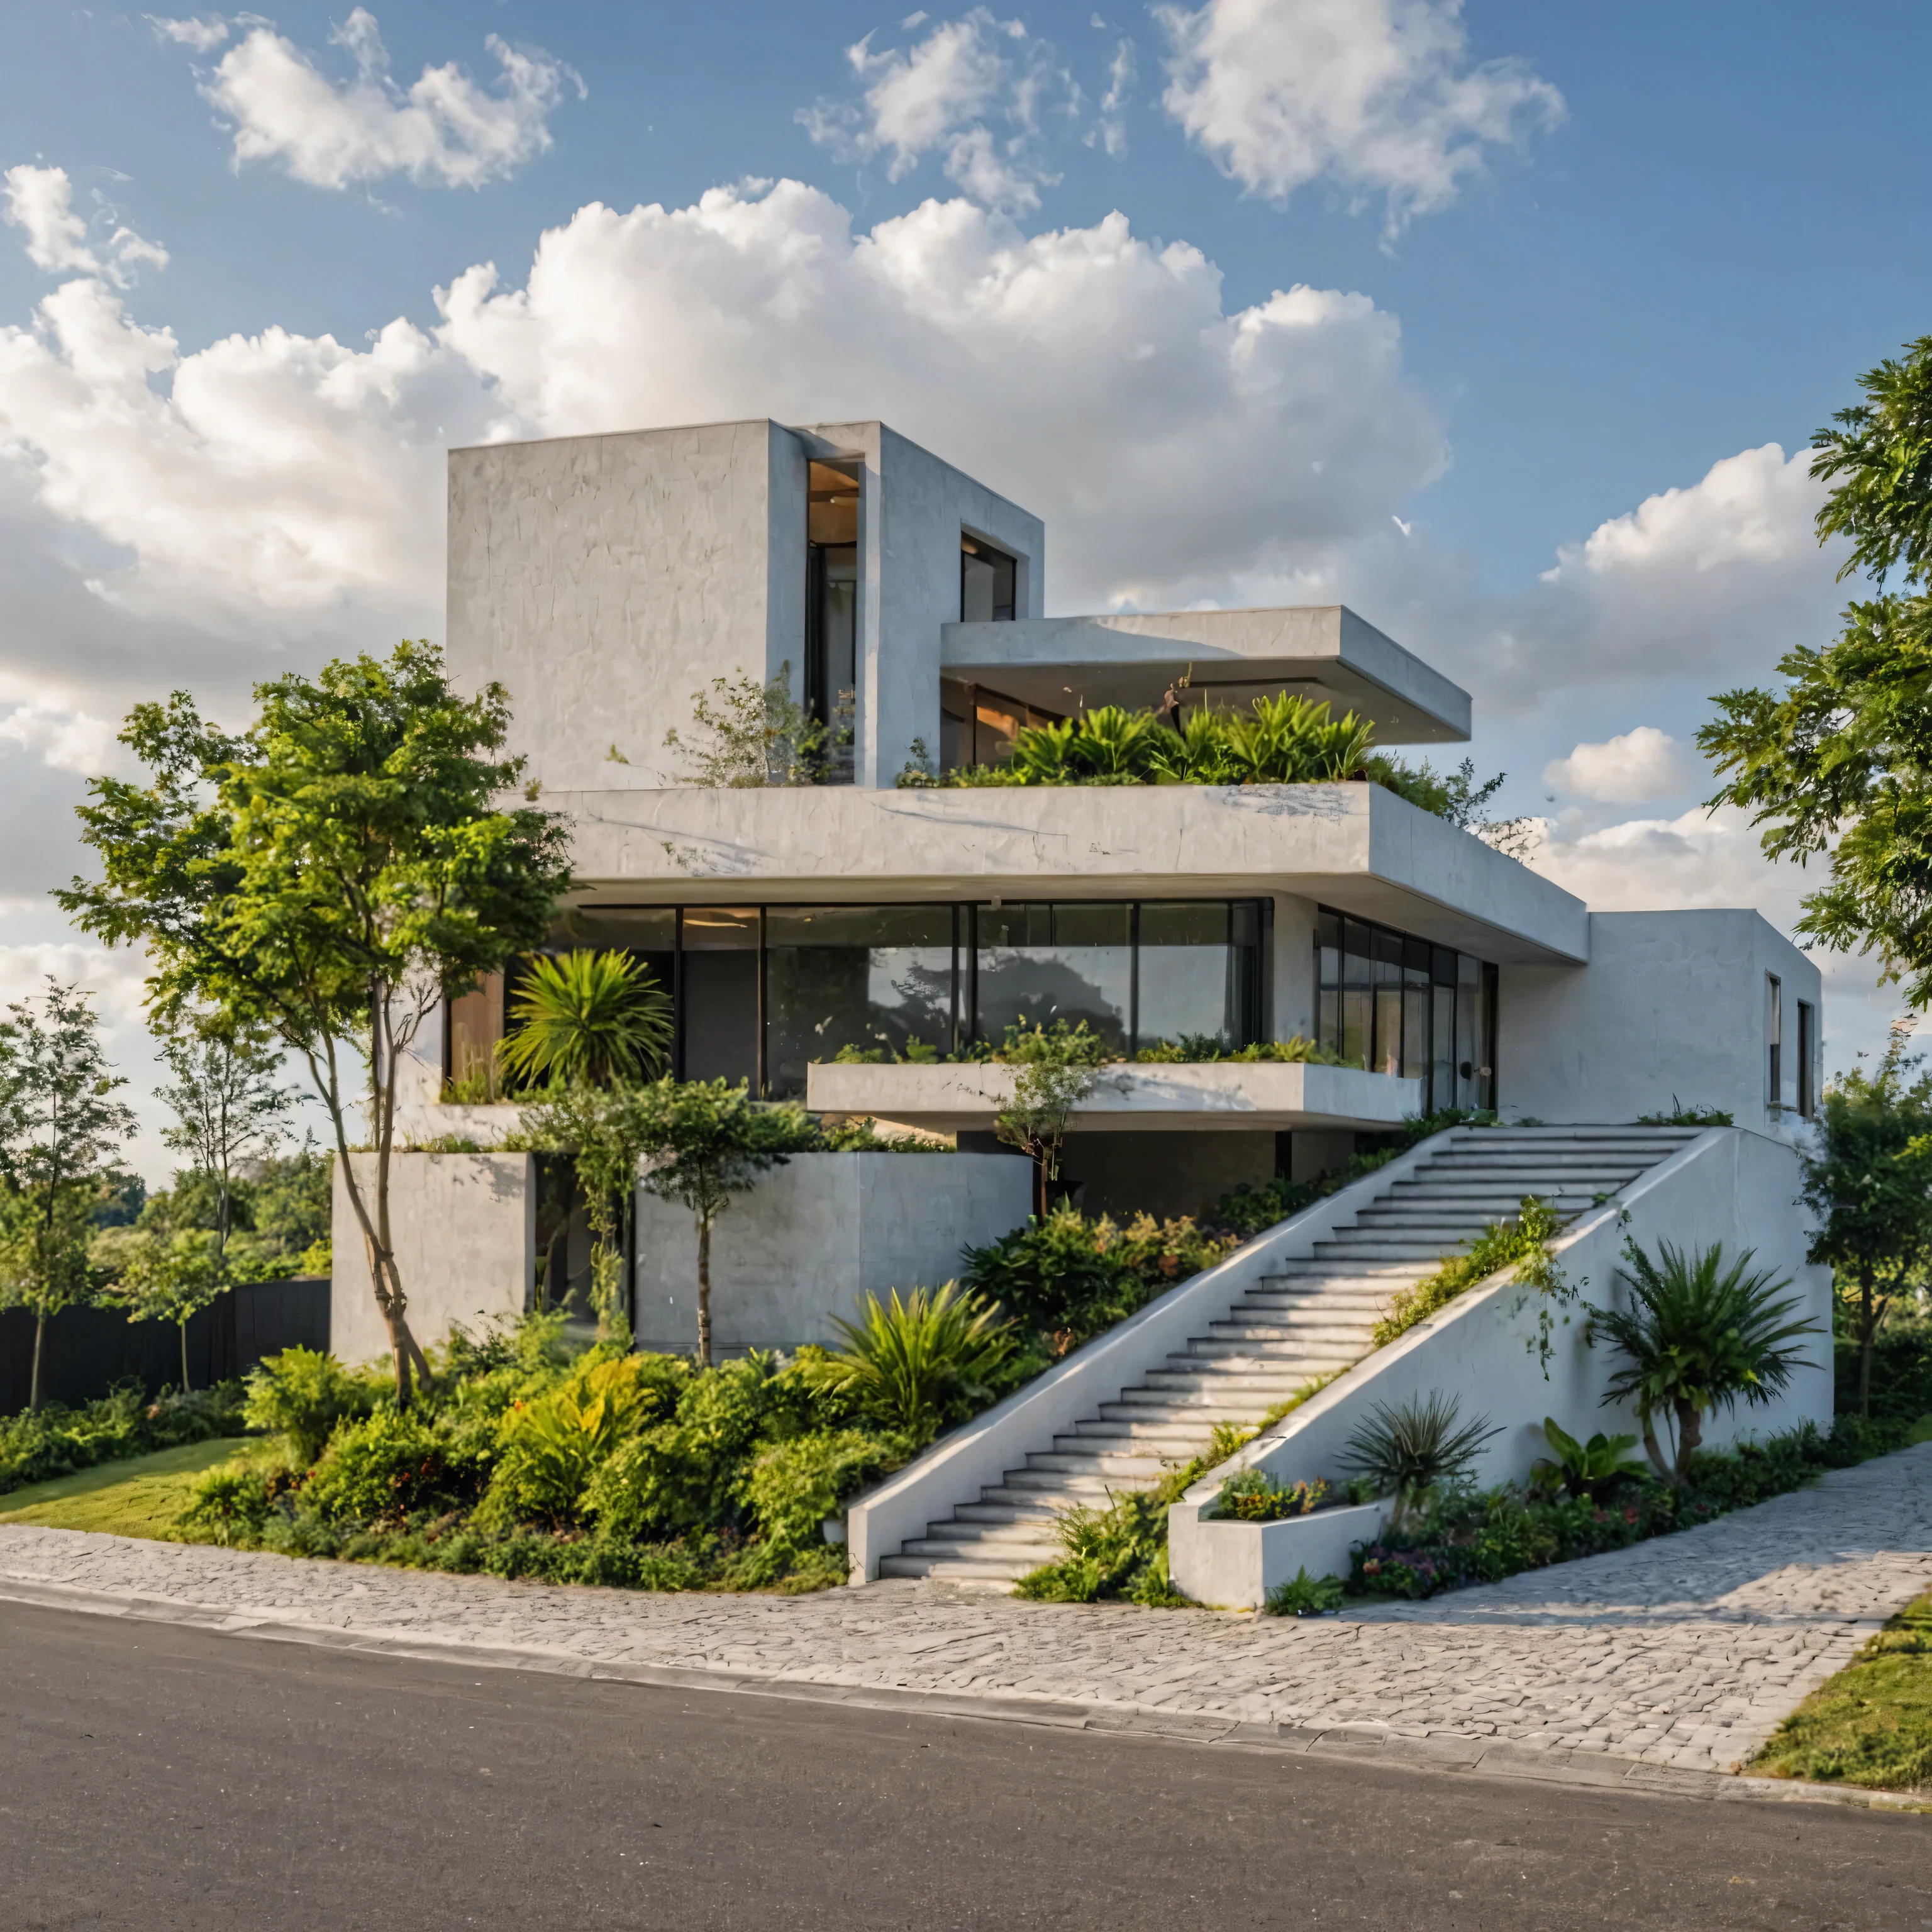
<svg viewBox="0 0 1932 1932">
<path fill-rule="evenodd" d="M 1592 912 L 1582 972 L 1505 966 L 1497 1101 L 1507 1119 L 1634 1121 L 1721 1107 L 1739 1126 L 1795 1132 L 1768 1092 L 1766 974 L 1781 981 L 1783 1109 L 1795 1109 L 1799 1001 L 1818 1016 L 1812 1092 L 1822 1088 L 1818 968 L 1760 914 Z"/>
</svg>

